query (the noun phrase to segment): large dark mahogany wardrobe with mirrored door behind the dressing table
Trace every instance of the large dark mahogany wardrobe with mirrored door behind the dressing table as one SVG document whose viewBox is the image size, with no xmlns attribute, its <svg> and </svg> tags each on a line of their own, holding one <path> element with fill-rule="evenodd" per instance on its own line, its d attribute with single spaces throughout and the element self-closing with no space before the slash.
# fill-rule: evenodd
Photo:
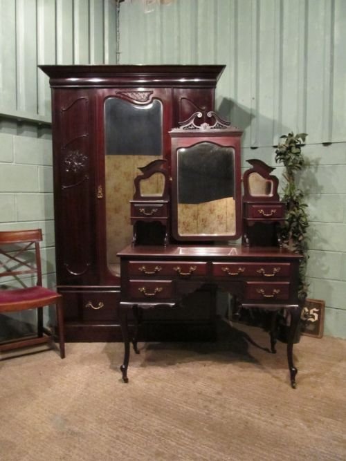
<svg viewBox="0 0 346 461">
<path fill-rule="evenodd" d="M 134 178 L 156 159 L 170 171 L 169 131 L 197 111 L 214 110 L 224 66 L 40 68 L 52 89 L 57 289 L 66 339 L 122 339 L 116 253 L 133 238 Z M 203 287 L 174 311 L 148 312 L 143 335 L 212 338 L 215 297 L 215 288 Z"/>
</svg>

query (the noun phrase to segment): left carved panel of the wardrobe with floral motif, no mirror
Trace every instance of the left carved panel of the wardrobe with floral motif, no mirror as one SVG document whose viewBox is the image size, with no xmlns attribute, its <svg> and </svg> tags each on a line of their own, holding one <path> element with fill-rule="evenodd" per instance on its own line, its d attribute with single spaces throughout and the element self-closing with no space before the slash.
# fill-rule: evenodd
<svg viewBox="0 0 346 461">
<path fill-rule="evenodd" d="M 55 245 L 58 285 L 98 283 L 95 240 L 95 97 L 53 90 Z"/>
</svg>

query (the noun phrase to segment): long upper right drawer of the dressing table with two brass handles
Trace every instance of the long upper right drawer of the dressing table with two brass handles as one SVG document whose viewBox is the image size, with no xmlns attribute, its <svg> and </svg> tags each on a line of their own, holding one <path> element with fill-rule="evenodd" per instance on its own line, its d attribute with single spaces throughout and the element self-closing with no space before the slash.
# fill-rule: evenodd
<svg viewBox="0 0 346 461">
<path fill-rule="evenodd" d="M 291 272 L 290 263 L 213 263 L 212 274 L 217 277 L 237 279 L 239 277 L 259 277 L 261 279 L 277 279 L 288 277 Z"/>
</svg>

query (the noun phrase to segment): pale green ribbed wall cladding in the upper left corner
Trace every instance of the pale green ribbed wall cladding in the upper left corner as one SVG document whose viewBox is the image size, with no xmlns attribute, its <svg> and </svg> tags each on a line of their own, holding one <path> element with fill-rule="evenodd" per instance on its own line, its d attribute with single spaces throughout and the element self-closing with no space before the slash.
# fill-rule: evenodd
<svg viewBox="0 0 346 461">
<path fill-rule="evenodd" d="M 1 119 L 51 121 L 37 64 L 116 64 L 117 11 L 116 0 L 0 0 Z"/>
</svg>

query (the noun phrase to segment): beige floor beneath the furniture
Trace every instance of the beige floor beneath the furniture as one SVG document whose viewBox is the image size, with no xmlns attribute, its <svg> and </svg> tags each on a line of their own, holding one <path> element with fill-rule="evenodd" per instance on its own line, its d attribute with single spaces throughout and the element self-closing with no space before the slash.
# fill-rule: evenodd
<svg viewBox="0 0 346 461">
<path fill-rule="evenodd" d="M 302 337 L 293 390 L 284 344 L 272 355 L 259 328 L 221 330 L 140 344 L 129 384 L 122 344 L 2 360 L 0 460 L 346 460 L 346 341 Z"/>
</svg>

